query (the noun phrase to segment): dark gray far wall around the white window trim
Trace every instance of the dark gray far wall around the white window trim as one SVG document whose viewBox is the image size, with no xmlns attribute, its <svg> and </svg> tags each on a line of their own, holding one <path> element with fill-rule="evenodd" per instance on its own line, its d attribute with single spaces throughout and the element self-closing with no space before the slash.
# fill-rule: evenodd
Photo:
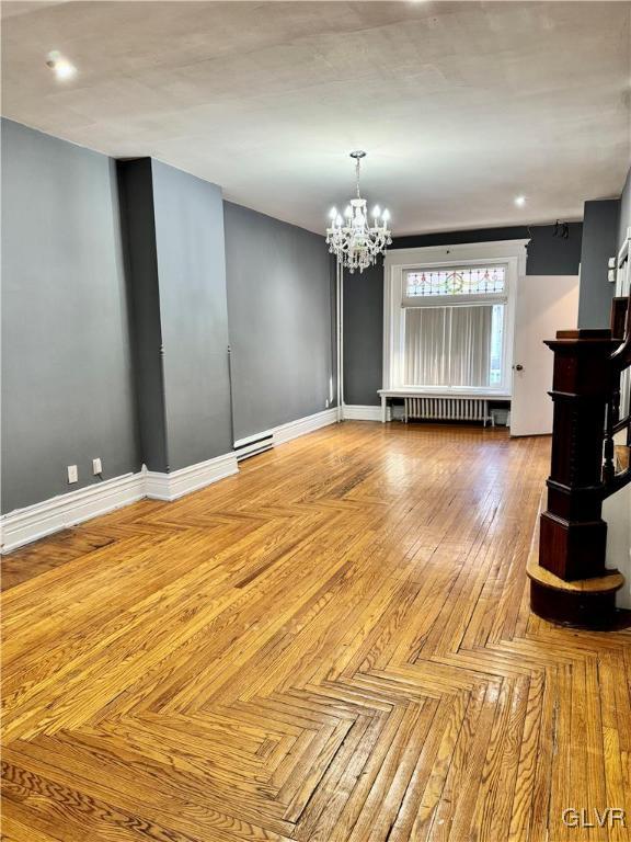
<svg viewBox="0 0 631 842">
<path fill-rule="evenodd" d="M 581 260 L 581 223 L 570 224 L 567 240 L 553 237 L 553 226 L 514 226 L 470 231 L 399 237 L 392 249 L 449 246 L 530 238 L 526 273 L 575 275 Z M 383 268 L 381 263 L 360 275 L 344 276 L 344 400 L 379 403 L 383 359 Z"/>
</svg>

